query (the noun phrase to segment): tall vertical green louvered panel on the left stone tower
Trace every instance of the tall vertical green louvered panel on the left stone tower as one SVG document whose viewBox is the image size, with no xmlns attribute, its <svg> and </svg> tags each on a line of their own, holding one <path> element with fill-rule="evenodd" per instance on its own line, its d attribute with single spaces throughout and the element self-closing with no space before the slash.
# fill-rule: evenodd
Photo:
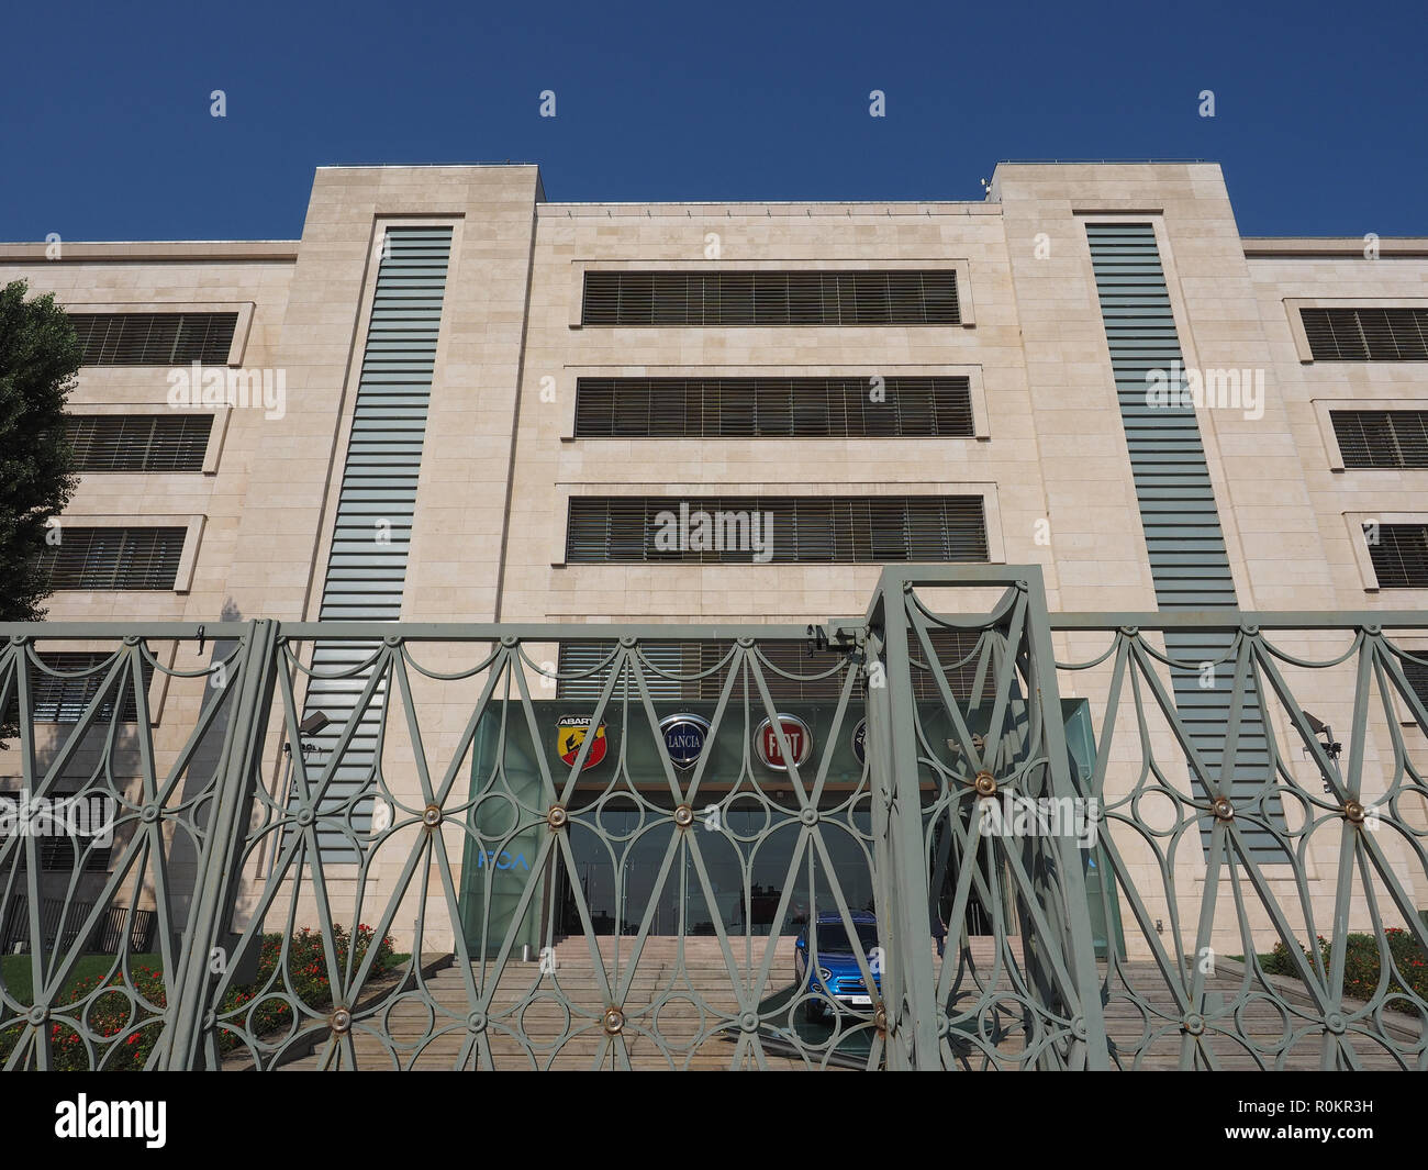
<svg viewBox="0 0 1428 1170">
<path fill-rule="evenodd" d="M 333 547 L 318 613 L 323 621 L 396 621 L 401 617 L 450 256 L 450 227 L 387 231 L 333 521 Z M 324 643 L 314 651 L 313 666 L 318 674 L 356 669 L 373 650 L 376 643 Z M 310 770 L 330 759 L 368 679 L 368 671 L 357 670 L 350 679 L 313 680 L 304 716 L 323 711 L 331 723 L 313 737 L 318 750 L 310 757 Z M 370 780 L 384 701 L 384 684 L 378 684 L 336 781 L 327 790 L 324 810 L 343 807 Z M 351 820 L 358 834 L 366 833 L 371 801 L 358 804 Z M 351 841 L 341 834 L 324 834 L 320 844 L 326 863 L 358 860 Z"/>
</svg>

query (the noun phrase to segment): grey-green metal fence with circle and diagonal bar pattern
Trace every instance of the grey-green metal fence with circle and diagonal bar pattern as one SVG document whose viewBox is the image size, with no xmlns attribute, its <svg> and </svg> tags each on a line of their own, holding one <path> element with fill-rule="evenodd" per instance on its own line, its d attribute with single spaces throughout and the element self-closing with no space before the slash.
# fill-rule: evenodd
<svg viewBox="0 0 1428 1170">
<path fill-rule="evenodd" d="M 0 633 L 6 1069 L 1428 1067 L 1424 613 Z"/>
</svg>

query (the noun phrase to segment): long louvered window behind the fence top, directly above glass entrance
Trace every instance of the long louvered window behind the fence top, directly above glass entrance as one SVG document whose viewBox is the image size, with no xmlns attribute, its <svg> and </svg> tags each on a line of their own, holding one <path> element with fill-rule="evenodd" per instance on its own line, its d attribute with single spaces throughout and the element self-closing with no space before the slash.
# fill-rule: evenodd
<svg viewBox="0 0 1428 1170">
<path fill-rule="evenodd" d="M 971 699 L 977 677 L 977 643 L 980 634 L 964 630 L 934 630 L 931 634 L 937 660 L 942 666 L 952 696 L 961 701 Z M 717 700 L 724 689 L 728 667 L 720 663 L 728 656 L 730 641 L 678 641 L 645 643 L 640 646 L 640 670 L 650 697 L 661 700 Z M 843 694 L 847 670 L 837 670 L 838 654 L 814 651 L 810 654 L 807 641 L 760 640 L 760 667 L 768 694 L 775 703 L 785 701 L 835 701 Z M 555 694 L 560 699 L 597 700 L 610 679 L 610 664 L 615 651 L 613 641 L 564 641 L 560 646 L 561 674 L 575 674 L 560 679 Z M 925 666 L 925 656 L 915 634 L 908 634 L 908 653 L 912 660 L 912 697 L 925 701 L 940 694 L 937 681 Z M 964 661 L 965 660 L 965 661 Z M 783 671 L 780 674 L 778 671 Z M 831 673 L 830 673 L 831 671 Z M 827 677 L 818 677 L 825 674 Z M 674 677 L 665 677 L 674 676 Z M 793 677 L 785 677 L 793 676 Z M 990 677 L 990 674 L 988 674 Z M 638 701 L 640 689 L 634 673 L 627 670 L 630 700 Z M 748 676 L 748 694 L 757 701 L 758 684 L 753 673 Z M 860 684 L 854 686 L 854 699 L 863 697 Z M 734 683 L 730 703 L 730 717 L 743 704 L 743 683 Z M 624 684 L 615 683 L 611 703 L 624 701 Z"/>
</svg>

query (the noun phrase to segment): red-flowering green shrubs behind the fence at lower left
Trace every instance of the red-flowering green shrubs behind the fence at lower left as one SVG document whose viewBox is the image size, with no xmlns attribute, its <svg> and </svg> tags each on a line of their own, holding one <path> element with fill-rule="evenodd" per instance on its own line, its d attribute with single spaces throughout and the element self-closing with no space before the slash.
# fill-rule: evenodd
<svg viewBox="0 0 1428 1170">
<path fill-rule="evenodd" d="M 370 926 L 358 926 L 356 936 L 350 937 L 340 926 L 333 927 L 333 944 L 336 951 L 337 970 L 346 971 L 348 950 L 353 951 L 353 970 L 356 971 L 374 940 Z M 303 927 L 287 940 L 287 977 L 284 980 L 278 970 L 278 959 L 283 953 L 281 934 L 264 934 L 258 956 L 257 979 L 241 987 L 231 987 L 223 997 L 218 1007 L 218 1050 L 223 1053 L 238 1047 L 238 1037 L 221 1027 L 223 1021 L 244 1029 L 251 1034 L 266 1036 L 286 1031 L 293 1027 L 293 1007 L 288 997 L 306 1007 L 321 1011 L 331 1007 L 333 994 L 328 983 L 327 956 L 323 946 L 323 936 L 310 927 Z M 393 954 L 391 936 L 383 937 L 377 943 L 377 954 L 373 959 L 373 974 L 398 966 Z M 161 1021 L 154 1019 L 144 1026 L 143 1020 L 156 1016 L 167 1006 L 164 991 L 164 977 L 159 967 L 139 966 L 133 970 L 131 987 L 124 987 L 124 980 L 116 974 L 109 980 L 113 990 L 96 993 L 101 977 L 84 979 L 69 987 L 56 1006 L 56 1014 L 64 1007 L 79 1004 L 94 996 L 87 1007 L 71 1013 L 81 1024 L 94 1033 L 99 1040 L 94 1043 L 94 1067 L 134 1070 L 143 1069 L 149 1053 L 153 1051 L 161 1030 Z M 278 999 L 278 997 L 283 999 Z M 257 1006 L 253 1007 L 253 1001 Z M 137 1024 L 137 1027 L 136 1027 Z M 126 1033 L 121 1039 L 120 1033 Z M 7 1024 L 0 1027 L 0 1064 L 24 1034 L 23 1026 Z M 106 1040 L 104 1037 L 116 1037 Z M 90 1056 L 84 1040 L 71 1023 L 64 1020 L 50 1024 L 50 1050 L 53 1064 L 60 1070 L 83 1070 L 90 1067 Z"/>
</svg>

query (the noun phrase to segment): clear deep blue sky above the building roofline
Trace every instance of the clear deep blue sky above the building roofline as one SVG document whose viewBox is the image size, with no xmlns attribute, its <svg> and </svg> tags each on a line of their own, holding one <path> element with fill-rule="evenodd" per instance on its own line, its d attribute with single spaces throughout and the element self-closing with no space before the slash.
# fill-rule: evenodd
<svg viewBox="0 0 1428 1170">
<path fill-rule="evenodd" d="M 1408 0 L 9 3 L 0 239 L 293 239 L 318 164 L 507 159 L 555 200 L 778 200 L 1195 157 L 1244 234 L 1428 234 L 1425 31 Z"/>
</svg>

